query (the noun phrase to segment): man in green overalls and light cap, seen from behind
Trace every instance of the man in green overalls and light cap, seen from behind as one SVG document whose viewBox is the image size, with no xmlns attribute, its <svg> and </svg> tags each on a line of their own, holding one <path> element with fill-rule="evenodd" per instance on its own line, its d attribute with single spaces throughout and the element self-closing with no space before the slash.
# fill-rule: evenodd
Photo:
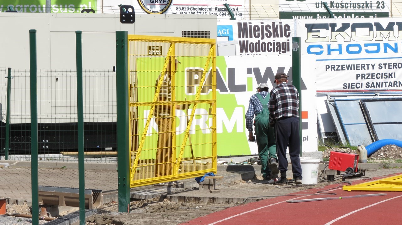
<svg viewBox="0 0 402 225">
<path fill-rule="evenodd" d="M 246 128 L 248 129 L 248 141 L 254 141 L 252 120 L 254 119 L 255 135 L 258 146 L 258 157 L 261 161 L 261 174 L 265 180 L 278 177 L 278 157 L 276 154 L 276 142 L 274 131 L 269 127 L 269 89 L 266 83 L 257 86 L 257 93 L 250 97 L 246 112 Z"/>
</svg>

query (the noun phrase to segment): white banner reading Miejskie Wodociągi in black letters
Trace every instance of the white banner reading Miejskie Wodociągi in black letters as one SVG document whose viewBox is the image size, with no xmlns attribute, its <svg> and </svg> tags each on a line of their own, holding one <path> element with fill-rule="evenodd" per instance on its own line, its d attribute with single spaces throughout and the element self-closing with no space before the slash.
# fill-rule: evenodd
<svg viewBox="0 0 402 225">
<path fill-rule="evenodd" d="M 236 55 L 291 54 L 293 20 L 221 20 L 217 29 L 218 42 L 234 41 Z"/>
</svg>

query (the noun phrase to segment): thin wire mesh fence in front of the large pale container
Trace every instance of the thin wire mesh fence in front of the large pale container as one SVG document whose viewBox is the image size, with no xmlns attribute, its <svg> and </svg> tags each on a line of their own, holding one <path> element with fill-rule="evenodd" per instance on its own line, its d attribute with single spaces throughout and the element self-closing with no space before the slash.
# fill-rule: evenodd
<svg viewBox="0 0 402 225">
<path fill-rule="evenodd" d="M 12 76 L 9 159 L 31 160 L 30 72 Z M 85 160 L 117 162 L 115 74 L 83 71 L 83 86 Z M 76 71 L 37 71 L 37 99 L 39 161 L 78 161 Z"/>
</svg>

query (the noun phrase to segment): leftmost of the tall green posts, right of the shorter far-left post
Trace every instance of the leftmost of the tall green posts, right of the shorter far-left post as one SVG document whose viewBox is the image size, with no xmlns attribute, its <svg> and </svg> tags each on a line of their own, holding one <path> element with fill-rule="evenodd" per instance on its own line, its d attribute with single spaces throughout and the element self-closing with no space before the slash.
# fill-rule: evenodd
<svg viewBox="0 0 402 225">
<path fill-rule="evenodd" d="M 32 225 L 39 225 L 39 176 L 38 176 L 38 96 L 36 65 L 36 30 L 29 30 L 29 73 L 31 88 L 31 183 Z"/>
</svg>

